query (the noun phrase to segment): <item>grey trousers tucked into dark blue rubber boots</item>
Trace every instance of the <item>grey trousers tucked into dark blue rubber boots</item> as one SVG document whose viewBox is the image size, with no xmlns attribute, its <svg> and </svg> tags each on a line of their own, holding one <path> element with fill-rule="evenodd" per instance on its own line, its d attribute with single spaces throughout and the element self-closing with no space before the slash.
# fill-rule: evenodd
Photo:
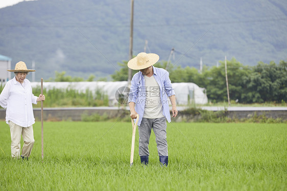
<svg viewBox="0 0 287 191">
<path fill-rule="evenodd" d="M 157 145 L 158 156 L 168 156 L 168 141 L 166 141 L 166 121 L 165 117 L 161 118 L 142 118 L 138 126 L 138 153 L 139 156 L 150 155 L 149 142 L 151 131 L 154 131 Z"/>
</svg>

